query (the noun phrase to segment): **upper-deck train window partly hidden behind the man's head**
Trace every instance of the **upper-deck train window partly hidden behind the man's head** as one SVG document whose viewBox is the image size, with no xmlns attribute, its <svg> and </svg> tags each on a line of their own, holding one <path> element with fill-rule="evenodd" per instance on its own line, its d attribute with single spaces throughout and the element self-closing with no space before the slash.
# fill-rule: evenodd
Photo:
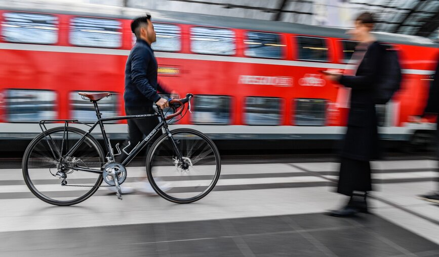
<svg viewBox="0 0 439 257">
<path fill-rule="evenodd" d="M 157 41 L 152 43 L 154 51 L 179 52 L 181 49 L 180 28 L 177 25 L 152 23 Z M 133 34 L 133 45 L 136 43 L 136 36 Z"/>
</svg>

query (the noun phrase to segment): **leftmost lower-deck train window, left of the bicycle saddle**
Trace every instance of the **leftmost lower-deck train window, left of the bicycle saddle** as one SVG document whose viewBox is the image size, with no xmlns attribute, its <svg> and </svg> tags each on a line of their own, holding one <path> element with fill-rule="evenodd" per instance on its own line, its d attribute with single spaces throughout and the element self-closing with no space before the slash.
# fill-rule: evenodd
<svg viewBox="0 0 439 257">
<path fill-rule="evenodd" d="M 9 122 L 38 122 L 56 119 L 56 93 L 49 90 L 5 90 L 6 120 Z"/>
</svg>

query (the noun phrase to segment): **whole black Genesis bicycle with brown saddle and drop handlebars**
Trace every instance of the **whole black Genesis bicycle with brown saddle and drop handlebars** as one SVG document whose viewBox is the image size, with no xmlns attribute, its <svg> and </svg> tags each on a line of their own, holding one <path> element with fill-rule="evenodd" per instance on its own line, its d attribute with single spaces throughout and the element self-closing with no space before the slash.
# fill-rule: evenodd
<svg viewBox="0 0 439 257">
<path fill-rule="evenodd" d="M 176 203 L 189 203 L 205 197 L 215 187 L 221 171 L 221 160 L 214 142 L 202 132 L 194 129 L 169 129 L 168 120 L 187 113 L 185 104 L 192 94 L 182 99 L 169 101 L 173 114 L 166 115 L 157 107 L 154 114 L 115 116 L 102 118 L 97 102 L 111 95 L 109 92 L 79 92 L 89 99 L 95 108 L 97 121 L 87 124 L 79 120 L 42 120 L 37 135 L 24 152 L 22 170 L 24 181 L 30 191 L 39 199 L 54 205 L 73 205 L 92 196 L 99 187 L 114 186 L 116 195 L 122 199 L 121 185 L 126 181 L 126 166 L 139 151 L 164 131 L 151 145 L 146 157 L 146 174 L 152 188 L 158 195 Z M 166 116 L 165 116 L 166 115 Z M 104 123 L 118 120 L 141 119 L 150 116 L 161 118 L 159 124 L 130 152 L 119 143 L 116 152 L 107 136 Z M 47 129 L 47 124 L 62 123 L 64 126 Z M 89 126 L 87 131 L 69 124 Z M 91 135 L 100 127 L 103 144 Z M 157 135 L 158 136 L 158 135 Z M 121 163 L 115 156 L 124 151 L 127 155 Z M 105 181 L 107 185 L 101 185 Z"/>
</svg>

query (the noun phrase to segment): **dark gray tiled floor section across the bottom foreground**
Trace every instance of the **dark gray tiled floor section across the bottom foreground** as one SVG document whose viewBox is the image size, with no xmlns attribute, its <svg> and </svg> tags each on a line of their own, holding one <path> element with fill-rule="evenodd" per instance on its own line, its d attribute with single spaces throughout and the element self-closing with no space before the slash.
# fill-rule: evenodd
<svg viewBox="0 0 439 257">
<path fill-rule="evenodd" d="M 439 245 L 374 215 L 3 232 L 0 242 L 5 256 L 439 256 Z"/>
</svg>

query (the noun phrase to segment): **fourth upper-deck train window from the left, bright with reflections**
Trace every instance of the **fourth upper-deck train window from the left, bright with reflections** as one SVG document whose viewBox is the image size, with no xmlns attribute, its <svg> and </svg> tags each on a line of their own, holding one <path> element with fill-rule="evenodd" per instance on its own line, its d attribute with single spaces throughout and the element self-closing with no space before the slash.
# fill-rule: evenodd
<svg viewBox="0 0 439 257">
<path fill-rule="evenodd" d="M 236 52 L 235 33 L 230 29 L 193 27 L 190 40 L 193 53 L 232 56 Z"/>
</svg>

